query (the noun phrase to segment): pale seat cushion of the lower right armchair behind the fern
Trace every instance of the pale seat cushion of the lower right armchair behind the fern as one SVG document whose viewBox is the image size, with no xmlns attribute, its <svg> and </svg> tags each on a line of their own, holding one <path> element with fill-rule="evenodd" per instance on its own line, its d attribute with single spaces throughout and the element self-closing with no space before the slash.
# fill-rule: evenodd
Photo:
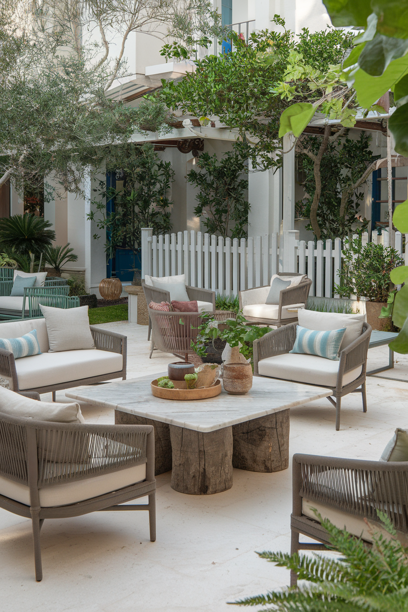
<svg viewBox="0 0 408 612">
<path fill-rule="evenodd" d="M 311 508 L 316 508 L 317 512 L 321 514 L 322 518 L 328 518 L 330 523 L 333 523 L 338 529 L 347 529 L 347 531 L 353 535 L 357 535 L 357 537 L 362 537 L 363 540 L 367 542 L 373 542 L 373 537 L 369 532 L 369 526 L 363 520 L 363 517 L 357 517 L 352 514 L 347 514 L 346 512 L 341 512 L 341 510 L 337 510 L 336 508 L 331 508 L 329 506 L 324 506 L 318 501 L 309 501 L 308 499 L 302 499 L 302 514 L 305 517 L 313 518 L 314 521 L 319 521 L 316 517 L 316 514 L 311 510 Z M 369 521 L 370 526 L 374 529 L 374 531 L 380 532 L 386 540 L 391 539 L 391 534 L 388 531 L 385 531 L 384 527 L 380 523 L 376 523 L 374 521 Z M 397 537 L 399 541 L 404 546 L 408 546 L 408 538 L 406 534 L 401 531 L 397 531 Z"/>
</svg>

